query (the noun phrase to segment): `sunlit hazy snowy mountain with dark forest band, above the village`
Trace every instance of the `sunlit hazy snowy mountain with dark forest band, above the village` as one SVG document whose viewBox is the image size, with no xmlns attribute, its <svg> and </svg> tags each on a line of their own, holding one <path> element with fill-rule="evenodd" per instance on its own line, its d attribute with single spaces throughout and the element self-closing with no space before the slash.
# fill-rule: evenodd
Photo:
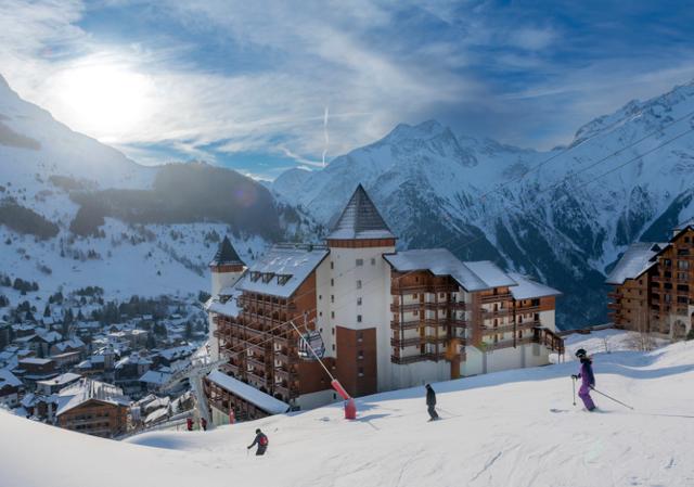
<svg viewBox="0 0 694 487">
<path fill-rule="evenodd" d="M 228 169 L 140 166 L 23 101 L 0 77 L 0 272 L 40 285 L 30 296 L 0 289 L 13 305 L 86 285 L 121 298 L 197 295 L 208 290 L 207 264 L 223 234 L 253 259 L 300 227 L 285 222 L 294 214 Z"/>
</svg>

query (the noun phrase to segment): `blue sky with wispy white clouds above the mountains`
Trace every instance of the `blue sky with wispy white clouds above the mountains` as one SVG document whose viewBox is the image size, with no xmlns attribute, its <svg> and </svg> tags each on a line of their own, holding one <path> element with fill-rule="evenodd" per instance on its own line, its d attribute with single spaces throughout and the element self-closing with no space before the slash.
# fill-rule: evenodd
<svg viewBox="0 0 694 487">
<path fill-rule="evenodd" d="M 684 1 L 0 0 L 0 75 L 141 164 L 273 179 L 399 123 L 539 150 L 694 79 Z"/>
</svg>

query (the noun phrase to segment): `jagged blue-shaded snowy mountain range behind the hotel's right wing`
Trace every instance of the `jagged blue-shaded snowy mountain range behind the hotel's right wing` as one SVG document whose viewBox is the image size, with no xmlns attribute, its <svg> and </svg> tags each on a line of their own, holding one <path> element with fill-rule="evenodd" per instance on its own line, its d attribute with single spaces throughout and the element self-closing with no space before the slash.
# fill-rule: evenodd
<svg viewBox="0 0 694 487">
<path fill-rule="evenodd" d="M 550 152 L 433 120 L 400 125 L 325 169 L 287 171 L 272 189 L 325 226 L 361 182 L 401 247 L 448 247 L 535 275 L 564 292 L 560 326 L 587 325 L 606 318 L 604 274 L 625 247 L 659 241 L 694 215 L 692 112 L 694 84 L 630 102 Z"/>
</svg>

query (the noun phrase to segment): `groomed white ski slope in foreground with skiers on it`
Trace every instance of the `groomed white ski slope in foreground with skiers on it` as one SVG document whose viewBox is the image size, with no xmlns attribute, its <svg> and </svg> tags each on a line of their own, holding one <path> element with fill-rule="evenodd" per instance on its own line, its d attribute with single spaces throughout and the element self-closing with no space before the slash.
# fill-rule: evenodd
<svg viewBox="0 0 694 487">
<path fill-rule="evenodd" d="M 615 332 L 613 344 L 624 343 Z M 587 338 L 587 341 L 583 341 Z M 592 341 L 592 342 L 590 342 Z M 571 337 L 570 348 L 601 335 Z M 616 346 L 615 349 L 620 347 Z M 154 486 L 692 486 L 694 343 L 594 356 L 600 412 L 571 405 L 577 362 L 434 384 L 213 432 L 150 433 L 116 443 L 0 413 L 2 487 Z M 552 412 L 555 409 L 558 412 Z M 245 446 L 261 427 L 266 457 Z"/>
</svg>

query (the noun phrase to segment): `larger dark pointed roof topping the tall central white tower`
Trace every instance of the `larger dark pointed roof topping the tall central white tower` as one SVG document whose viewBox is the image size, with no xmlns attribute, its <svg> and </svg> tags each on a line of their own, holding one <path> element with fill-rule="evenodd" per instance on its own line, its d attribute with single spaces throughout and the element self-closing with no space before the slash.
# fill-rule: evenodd
<svg viewBox="0 0 694 487">
<path fill-rule="evenodd" d="M 361 184 L 337 219 L 327 240 L 395 239 Z"/>
</svg>

